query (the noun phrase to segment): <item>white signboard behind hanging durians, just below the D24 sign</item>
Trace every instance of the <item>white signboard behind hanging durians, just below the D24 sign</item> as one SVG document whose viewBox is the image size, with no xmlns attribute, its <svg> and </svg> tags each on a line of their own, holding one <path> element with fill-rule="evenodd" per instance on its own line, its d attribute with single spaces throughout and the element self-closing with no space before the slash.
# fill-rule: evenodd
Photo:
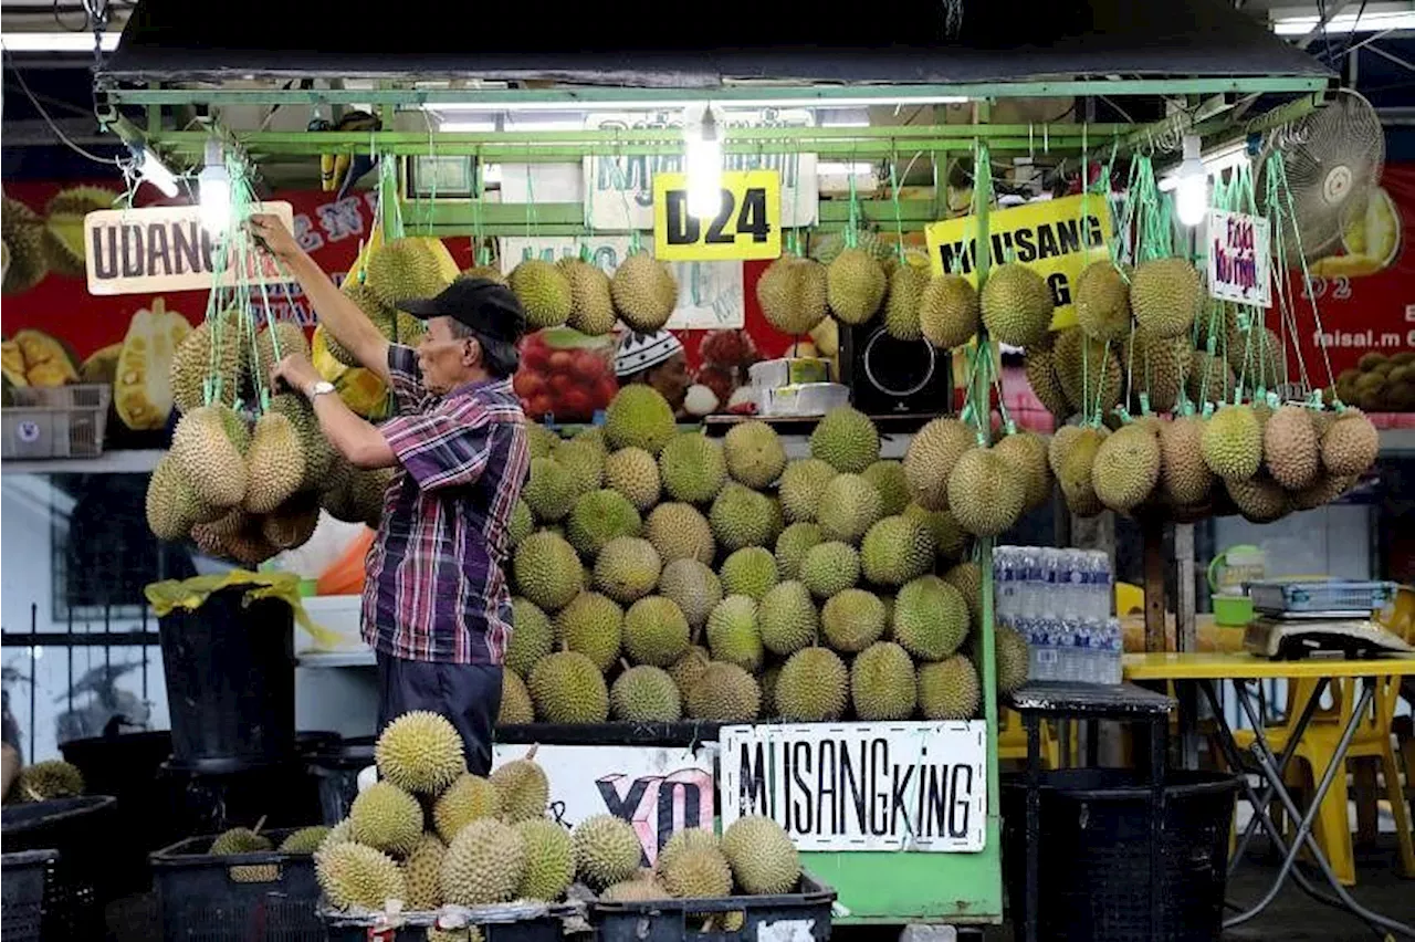
<svg viewBox="0 0 1415 942">
<path fill-rule="evenodd" d="M 526 257 L 528 250 L 546 262 L 579 257 L 582 243 L 589 246 L 594 264 L 604 269 L 606 274 L 614 274 L 620 262 L 628 256 L 630 236 L 502 236 L 498 246 L 501 270 L 509 274 Z M 652 255 L 652 238 L 645 238 L 642 246 Z M 747 308 L 740 262 L 675 262 L 669 267 L 678 279 L 678 307 L 668 318 L 668 330 L 743 327 Z"/>
</svg>

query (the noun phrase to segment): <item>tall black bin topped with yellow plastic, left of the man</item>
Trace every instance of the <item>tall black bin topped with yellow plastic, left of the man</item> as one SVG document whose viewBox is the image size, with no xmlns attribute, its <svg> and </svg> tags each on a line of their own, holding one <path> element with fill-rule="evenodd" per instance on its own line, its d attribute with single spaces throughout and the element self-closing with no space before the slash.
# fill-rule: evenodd
<svg viewBox="0 0 1415 942">
<path fill-rule="evenodd" d="M 174 768 L 222 774 L 297 757 L 294 612 L 250 588 L 158 620 Z"/>
</svg>

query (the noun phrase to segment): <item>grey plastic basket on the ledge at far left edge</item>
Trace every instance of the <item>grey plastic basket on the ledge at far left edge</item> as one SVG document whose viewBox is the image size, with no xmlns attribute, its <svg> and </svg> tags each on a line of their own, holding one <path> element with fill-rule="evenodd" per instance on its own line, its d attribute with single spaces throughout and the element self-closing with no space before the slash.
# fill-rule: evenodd
<svg viewBox="0 0 1415 942">
<path fill-rule="evenodd" d="M 0 458 L 96 458 L 103 454 L 110 386 L 17 386 L 0 407 Z"/>
</svg>

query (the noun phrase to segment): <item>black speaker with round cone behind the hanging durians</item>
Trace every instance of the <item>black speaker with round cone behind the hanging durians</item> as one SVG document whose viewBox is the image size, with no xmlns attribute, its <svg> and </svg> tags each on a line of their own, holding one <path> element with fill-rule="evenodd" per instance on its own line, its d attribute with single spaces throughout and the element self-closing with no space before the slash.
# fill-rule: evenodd
<svg viewBox="0 0 1415 942">
<path fill-rule="evenodd" d="M 841 382 L 867 416 L 952 412 L 952 354 L 925 339 L 894 339 L 879 318 L 841 324 Z"/>
</svg>

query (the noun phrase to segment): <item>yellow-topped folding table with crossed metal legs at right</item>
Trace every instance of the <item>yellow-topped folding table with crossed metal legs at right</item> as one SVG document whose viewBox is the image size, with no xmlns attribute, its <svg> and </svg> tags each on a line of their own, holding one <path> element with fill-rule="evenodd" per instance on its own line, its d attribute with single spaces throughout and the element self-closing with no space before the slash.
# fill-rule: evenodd
<svg viewBox="0 0 1415 942">
<path fill-rule="evenodd" d="M 1332 871 L 1330 863 L 1327 863 L 1326 854 L 1322 853 L 1317 842 L 1312 837 L 1312 822 L 1322 805 L 1322 798 L 1327 793 L 1327 789 L 1332 788 L 1332 781 L 1336 775 L 1339 772 L 1343 775 L 1346 774 L 1346 752 L 1351 744 L 1351 737 L 1356 735 L 1356 730 L 1361 723 L 1361 716 L 1365 713 L 1367 707 L 1371 706 L 1371 699 L 1375 692 L 1375 679 L 1415 676 L 1415 658 L 1391 656 L 1370 658 L 1363 661 L 1312 658 L 1306 661 L 1271 661 L 1268 658 L 1254 656 L 1248 652 L 1196 652 L 1125 655 L 1124 663 L 1125 679 L 1131 682 L 1140 683 L 1146 680 L 1172 680 L 1176 683 L 1197 683 L 1199 689 L 1203 690 L 1204 697 L 1213 709 L 1214 724 L 1218 731 L 1218 743 L 1224 750 L 1224 755 L 1227 757 L 1231 768 L 1242 769 L 1248 764 L 1242 760 L 1242 752 L 1234 741 L 1232 728 L 1230 728 L 1228 720 L 1224 717 L 1223 707 L 1218 703 L 1218 692 L 1215 689 L 1218 682 L 1231 680 L 1234 683 L 1234 689 L 1238 693 L 1238 704 L 1242 707 L 1244 714 L 1254 727 L 1252 752 L 1257 760 L 1258 772 L 1266 782 L 1266 788 L 1259 795 L 1257 788 L 1248 782 L 1247 775 L 1241 777 L 1241 786 L 1248 798 L 1248 802 L 1252 805 L 1254 815 L 1252 820 L 1248 822 L 1248 829 L 1244 832 L 1242 842 L 1238 844 L 1238 849 L 1232 854 L 1232 860 L 1228 863 L 1228 873 L 1232 874 L 1237 868 L 1240 860 L 1242 859 L 1242 851 L 1248 846 L 1248 842 L 1257 827 L 1262 827 L 1268 833 L 1274 846 L 1283 853 L 1283 861 L 1276 880 L 1274 880 L 1272 887 L 1262 897 L 1262 900 L 1238 915 L 1225 919 L 1225 929 L 1248 922 L 1266 909 L 1274 898 L 1276 898 L 1282 884 L 1286 883 L 1289 876 L 1292 876 L 1298 885 L 1315 900 L 1346 909 L 1378 932 L 1390 932 L 1415 939 L 1415 928 L 1382 917 L 1377 912 L 1371 912 L 1358 904 L 1337 880 L 1336 874 Z M 1302 710 L 1302 716 L 1292 727 L 1292 733 L 1288 737 L 1288 745 L 1283 748 L 1282 755 L 1276 755 L 1272 751 L 1272 747 L 1264 734 L 1262 717 L 1254 706 L 1254 694 L 1249 689 L 1249 685 L 1257 680 L 1274 680 L 1279 678 L 1288 680 L 1310 679 L 1317 682 L 1312 697 Z M 1360 682 L 1360 700 L 1357 702 L 1356 710 L 1351 713 L 1351 719 L 1347 721 L 1346 728 L 1341 731 L 1341 738 L 1337 743 L 1332 761 L 1327 764 L 1326 772 L 1322 775 L 1322 781 L 1316 786 L 1310 808 L 1306 813 L 1302 813 L 1298 809 L 1292 793 L 1288 791 L 1283 772 L 1292 761 L 1292 755 L 1296 752 L 1298 743 L 1302 740 L 1307 724 L 1312 721 L 1312 714 L 1316 713 L 1317 703 L 1322 700 L 1322 693 L 1326 690 L 1326 685 L 1339 678 Z M 1281 830 L 1274 823 L 1268 810 L 1274 801 L 1279 802 L 1286 809 L 1292 820 L 1300 822 L 1290 846 L 1286 840 L 1283 840 Z M 1302 853 L 1303 847 L 1306 847 L 1306 850 L 1312 854 L 1312 859 L 1322 870 L 1322 876 L 1332 885 L 1336 892 L 1334 897 L 1317 890 L 1312 885 L 1306 876 L 1296 868 L 1295 864 L 1298 854 Z"/>
</svg>

